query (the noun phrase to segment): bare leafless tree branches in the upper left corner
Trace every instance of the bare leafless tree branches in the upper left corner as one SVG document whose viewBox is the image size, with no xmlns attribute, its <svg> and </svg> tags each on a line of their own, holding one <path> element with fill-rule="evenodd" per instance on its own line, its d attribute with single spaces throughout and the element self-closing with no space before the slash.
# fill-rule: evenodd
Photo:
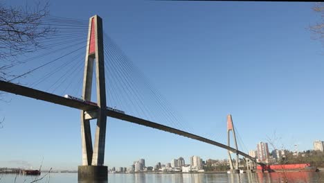
<svg viewBox="0 0 324 183">
<path fill-rule="evenodd" d="M 17 62 L 17 56 L 37 51 L 42 40 L 55 32 L 51 26 L 44 26 L 48 17 L 48 3 L 33 8 L 7 7 L 0 3 L 0 79 L 12 77 L 10 68 Z"/>
</svg>

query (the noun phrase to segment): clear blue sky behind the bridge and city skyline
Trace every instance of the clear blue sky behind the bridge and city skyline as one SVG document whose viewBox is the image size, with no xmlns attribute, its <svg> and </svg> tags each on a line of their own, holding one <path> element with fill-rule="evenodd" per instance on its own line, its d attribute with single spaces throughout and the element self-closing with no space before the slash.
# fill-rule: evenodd
<svg viewBox="0 0 324 183">
<path fill-rule="evenodd" d="M 7 1 L 12 6 L 21 1 Z M 89 19 L 150 78 L 195 133 L 226 143 L 232 114 L 246 150 L 267 137 L 312 149 L 323 137 L 323 46 L 308 26 L 314 3 L 208 1 L 50 1 L 51 15 Z M 81 164 L 80 112 L 8 94 L 0 103 L 0 166 L 75 170 Z M 247 153 L 247 152 L 246 152 Z M 148 166 L 226 150 L 108 119 L 105 164 Z"/>
</svg>

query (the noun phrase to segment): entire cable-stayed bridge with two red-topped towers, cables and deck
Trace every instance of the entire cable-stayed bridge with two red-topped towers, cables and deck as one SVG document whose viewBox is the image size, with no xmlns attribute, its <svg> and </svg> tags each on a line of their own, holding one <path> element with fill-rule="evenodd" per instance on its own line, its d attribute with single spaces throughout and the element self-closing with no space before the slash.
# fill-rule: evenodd
<svg viewBox="0 0 324 183">
<path fill-rule="evenodd" d="M 0 90 L 82 111 L 82 166 L 79 166 L 79 176 L 107 177 L 107 166 L 104 166 L 107 116 L 209 143 L 235 153 L 237 157 L 242 155 L 255 162 L 253 157 L 238 150 L 237 146 L 236 148 L 229 146 L 229 140 L 228 145 L 225 145 L 180 129 L 183 128 L 183 125 L 179 116 L 168 107 L 163 96 L 148 84 L 147 78 L 138 73 L 137 67 L 134 67 L 134 64 L 127 60 L 114 41 L 103 33 L 100 17 L 97 15 L 91 17 L 89 23 L 58 17 L 48 17 L 44 21 L 45 26 L 58 26 L 55 30 L 56 35 L 51 39 L 44 40 L 45 46 L 40 48 L 47 52 L 3 65 L 1 68 L 4 69 L 15 69 L 22 65 L 22 68 L 19 68 L 19 71 L 22 72 L 12 74 L 6 80 L 0 80 Z M 87 28 L 87 33 L 78 34 L 80 27 Z M 55 55 L 53 58 L 52 54 L 59 51 L 61 54 Z M 85 62 L 80 62 L 84 58 Z M 31 63 L 34 60 L 41 60 L 41 63 Z M 24 67 L 29 64 L 33 68 L 24 71 Z M 84 70 L 82 71 L 83 65 Z M 42 71 L 45 67 L 51 67 L 51 71 L 39 73 L 42 77 L 33 80 L 30 85 L 17 84 L 17 80 L 23 82 L 24 77 Z M 58 79 L 52 80 L 55 74 L 59 75 Z M 78 78 L 78 81 L 75 82 L 73 78 Z M 138 80 L 144 80 L 144 82 L 138 85 L 136 83 Z M 67 84 L 64 86 L 64 83 Z M 73 91 L 78 91 L 82 83 L 80 94 L 82 98 L 64 97 L 63 94 L 57 94 L 60 89 L 62 93 L 73 94 Z M 47 87 L 44 89 L 46 92 L 36 89 L 40 84 Z M 71 87 L 73 85 L 76 87 Z M 96 93 L 93 92 L 93 88 L 96 88 Z M 73 96 L 78 96 L 78 94 Z M 96 103 L 91 102 L 91 98 L 94 97 L 96 97 Z M 145 97 L 147 101 L 145 101 Z M 156 105 L 150 105 L 152 101 L 156 101 Z M 119 110 L 109 106 L 118 106 Z M 161 114 L 155 115 L 152 110 L 161 112 Z M 89 124 L 92 119 L 97 120 L 94 144 L 92 144 Z M 231 125 L 233 128 L 232 122 Z"/>
</svg>

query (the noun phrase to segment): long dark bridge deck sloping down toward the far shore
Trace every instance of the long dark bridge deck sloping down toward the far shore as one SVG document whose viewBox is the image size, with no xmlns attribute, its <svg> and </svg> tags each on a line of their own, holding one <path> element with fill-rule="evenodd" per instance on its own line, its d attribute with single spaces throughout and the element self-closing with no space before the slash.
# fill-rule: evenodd
<svg viewBox="0 0 324 183">
<path fill-rule="evenodd" d="M 76 109 L 79 109 L 79 110 L 84 110 L 84 111 L 96 110 L 98 108 L 96 106 L 93 106 L 93 105 L 90 105 L 90 104 L 87 104 L 87 103 L 83 103 L 82 101 L 76 101 L 76 100 L 73 100 L 73 99 L 64 98 L 63 96 L 57 96 L 55 94 L 42 92 L 42 91 L 37 90 L 37 89 L 24 87 L 24 86 L 13 84 L 11 82 L 6 82 L 6 81 L 3 81 L 3 80 L 0 80 L 0 91 L 9 92 L 9 93 L 12 93 L 12 94 L 18 94 L 18 95 L 21 95 L 21 96 L 27 96 L 27 97 L 30 97 L 30 98 L 35 98 L 37 100 L 47 101 L 47 102 L 50 102 L 50 103 L 56 103 L 58 105 L 64 105 L 64 106 L 67 106 L 67 107 L 73 107 L 73 108 L 76 108 Z M 181 135 L 183 137 L 188 137 L 190 139 L 195 139 L 197 141 L 202 141 L 202 142 L 205 142 L 205 143 L 209 143 L 209 144 L 214 145 L 214 146 L 218 146 L 218 147 L 221 147 L 221 148 L 225 148 L 227 150 L 231 150 L 233 153 L 238 153 L 239 155 L 242 155 L 243 157 L 251 159 L 253 162 L 255 162 L 255 159 L 253 157 L 251 157 L 249 155 L 246 155 L 245 153 L 243 153 L 240 150 L 236 150 L 235 148 L 231 148 L 230 146 L 226 146 L 223 143 L 218 143 L 217 141 L 212 141 L 210 139 L 206 139 L 204 137 L 200 137 L 200 136 L 195 135 L 195 134 L 184 132 L 182 130 L 177 130 L 175 128 L 171 128 L 171 127 L 168 127 L 166 125 L 161 125 L 159 123 L 154 123 L 152 121 L 147 121 L 145 119 L 140 119 L 140 118 L 137 118 L 135 116 L 130 116 L 130 115 L 127 115 L 127 114 L 122 114 L 122 113 L 119 113 L 119 112 L 115 112 L 113 110 L 107 110 L 107 116 L 115 118 L 115 119 L 120 119 L 120 120 L 123 120 L 123 121 L 128 121 L 128 122 L 131 122 L 131 123 L 136 123 L 138 125 L 145 125 L 145 126 L 150 127 L 150 128 L 163 130 L 165 132 L 179 134 L 179 135 Z"/>
</svg>

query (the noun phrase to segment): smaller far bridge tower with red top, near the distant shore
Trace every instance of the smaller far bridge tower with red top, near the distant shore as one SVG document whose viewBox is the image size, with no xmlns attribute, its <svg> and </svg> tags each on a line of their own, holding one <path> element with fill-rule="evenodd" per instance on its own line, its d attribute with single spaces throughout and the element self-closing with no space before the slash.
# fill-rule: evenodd
<svg viewBox="0 0 324 183">
<path fill-rule="evenodd" d="M 236 143 L 234 125 L 233 125 L 233 121 L 232 121 L 232 115 L 228 114 L 227 115 L 227 146 L 230 146 L 230 131 L 233 131 L 233 138 L 234 138 L 235 148 L 236 148 L 236 150 L 238 150 L 237 143 Z M 227 152 L 228 152 L 228 161 L 229 161 L 229 164 L 230 164 L 230 167 L 231 167 L 231 171 L 234 171 L 235 173 L 240 173 L 240 170 L 238 168 L 238 164 L 239 164 L 238 153 L 236 153 L 235 170 L 234 170 L 233 161 L 232 161 L 232 157 L 231 157 L 231 151 L 228 150 Z"/>
</svg>

